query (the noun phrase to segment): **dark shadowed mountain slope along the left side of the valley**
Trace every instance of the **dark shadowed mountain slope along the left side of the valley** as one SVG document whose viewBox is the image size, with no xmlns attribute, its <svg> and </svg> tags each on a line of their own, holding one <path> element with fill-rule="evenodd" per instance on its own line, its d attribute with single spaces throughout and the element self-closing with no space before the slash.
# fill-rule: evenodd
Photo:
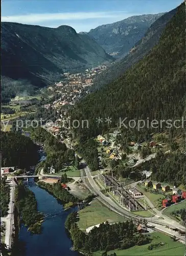
<svg viewBox="0 0 186 256">
<path fill-rule="evenodd" d="M 27 79 L 42 87 L 65 71 L 98 65 L 112 57 L 95 40 L 69 26 L 54 29 L 2 23 L 1 59 L 3 77 Z"/>
</svg>

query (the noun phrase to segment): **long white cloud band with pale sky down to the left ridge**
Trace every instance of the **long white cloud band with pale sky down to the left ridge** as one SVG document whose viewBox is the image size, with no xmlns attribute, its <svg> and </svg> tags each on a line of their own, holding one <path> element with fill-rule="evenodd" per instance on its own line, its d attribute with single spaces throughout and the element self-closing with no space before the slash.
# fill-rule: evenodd
<svg viewBox="0 0 186 256">
<path fill-rule="evenodd" d="M 77 32 L 89 31 L 102 24 L 117 22 L 137 13 L 126 11 L 112 12 L 64 12 L 64 13 L 31 13 L 26 15 L 2 16 L 2 22 L 16 22 L 29 25 L 57 28 L 60 25 L 73 27 Z M 86 21 L 85 21 L 86 20 Z"/>
</svg>

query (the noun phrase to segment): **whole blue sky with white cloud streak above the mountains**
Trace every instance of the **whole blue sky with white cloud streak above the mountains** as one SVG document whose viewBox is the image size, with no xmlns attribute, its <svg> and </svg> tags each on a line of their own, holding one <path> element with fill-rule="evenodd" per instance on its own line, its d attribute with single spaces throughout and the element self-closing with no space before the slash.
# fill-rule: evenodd
<svg viewBox="0 0 186 256">
<path fill-rule="evenodd" d="M 166 12 L 183 0 L 2 0 L 2 21 L 56 28 L 72 26 L 77 32 L 133 15 Z"/>
</svg>

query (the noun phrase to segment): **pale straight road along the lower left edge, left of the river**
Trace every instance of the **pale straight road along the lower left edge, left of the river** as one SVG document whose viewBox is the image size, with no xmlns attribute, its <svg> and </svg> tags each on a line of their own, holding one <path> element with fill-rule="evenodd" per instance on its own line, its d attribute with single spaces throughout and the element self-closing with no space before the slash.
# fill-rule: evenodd
<svg viewBox="0 0 186 256">
<path fill-rule="evenodd" d="M 10 202 L 9 202 L 9 210 L 7 217 L 1 218 L 1 222 L 4 221 L 6 223 L 6 230 L 5 230 L 5 244 L 11 248 L 12 242 L 12 230 L 14 225 L 14 188 L 15 182 L 13 180 L 7 180 L 10 185 Z"/>
</svg>

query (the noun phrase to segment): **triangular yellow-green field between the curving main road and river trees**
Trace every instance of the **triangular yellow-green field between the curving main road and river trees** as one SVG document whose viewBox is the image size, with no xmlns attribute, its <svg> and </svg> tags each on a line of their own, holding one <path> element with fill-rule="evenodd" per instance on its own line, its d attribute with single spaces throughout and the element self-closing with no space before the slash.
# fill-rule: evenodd
<svg viewBox="0 0 186 256">
<path fill-rule="evenodd" d="M 78 226 L 85 230 L 88 227 L 108 221 L 110 223 L 126 221 L 126 219 L 102 205 L 97 199 L 80 211 Z"/>
</svg>

